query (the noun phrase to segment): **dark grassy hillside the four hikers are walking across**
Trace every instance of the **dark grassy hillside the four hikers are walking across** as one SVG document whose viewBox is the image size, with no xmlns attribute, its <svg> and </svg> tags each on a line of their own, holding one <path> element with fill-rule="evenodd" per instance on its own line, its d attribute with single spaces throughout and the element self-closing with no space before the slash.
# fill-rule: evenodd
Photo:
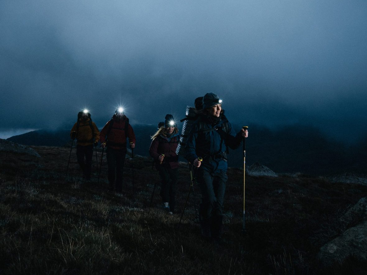
<svg viewBox="0 0 367 275">
<path fill-rule="evenodd" d="M 345 230 L 342 213 L 366 197 L 367 187 L 320 178 L 246 177 L 243 233 L 243 171 L 229 169 L 221 244 L 199 234 L 190 183 L 179 168 L 177 210 L 160 208 L 157 172 L 149 158 L 125 169 L 124 193 L 107 192 L 106 160 L 99 185 L 85 186 L 70 148 L 32 146 L 41 158 L 0 152 L 1 274 L 362 274 L 366 263 L 353 257 L 323 267 L 322 245 Z M 98 151 L 98 159 L 101 150 Z M 134 188 L 133 188 L 134 187 Z M 134 190 L 133 190 L 134 189 Z"/>
</svg>

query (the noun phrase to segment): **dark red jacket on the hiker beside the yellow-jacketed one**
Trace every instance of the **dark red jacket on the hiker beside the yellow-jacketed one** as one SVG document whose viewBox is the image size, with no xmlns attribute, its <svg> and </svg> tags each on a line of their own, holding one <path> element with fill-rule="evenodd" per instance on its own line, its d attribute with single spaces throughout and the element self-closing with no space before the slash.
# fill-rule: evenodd
<svg viewBox="0 0 367 275">
<path fill-rule="evenodd" d="M 110 127 L 111 123 L 112 127 Z M 127 133 L 125 132 L 126 129 Z M 109 120 L 106 123 L 99 136 L 101 143 L 106 142 L 107 140 L 107 146 L 116 150 L 126 149 L 126 138 L 128 138 L 132 143 L 136 142 L 134 130 L 129 124 L 129 120 L 126 115 L 124 115 L 122 120 L 117 120 L 116 115 L 113 115 L 112 120 Z"/>
</svg>

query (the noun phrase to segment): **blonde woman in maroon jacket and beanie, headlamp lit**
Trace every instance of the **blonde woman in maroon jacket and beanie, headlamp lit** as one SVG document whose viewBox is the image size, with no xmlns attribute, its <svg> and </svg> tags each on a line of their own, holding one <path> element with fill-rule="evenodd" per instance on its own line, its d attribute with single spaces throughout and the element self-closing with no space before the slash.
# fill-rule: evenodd
<svg viewBox="0 0 367 275">
<path fill-rule="evenodd" d="M 175 213 L 175 194 L 178 177 L 178 155 L 176 148 L 179 141 L 177 124 L 171 114 L 167 114 L 164 125 L 152 136 L 149 154 L 153 157 L 161 180 L 160 195 L 163 209 Z"/>
</svg>

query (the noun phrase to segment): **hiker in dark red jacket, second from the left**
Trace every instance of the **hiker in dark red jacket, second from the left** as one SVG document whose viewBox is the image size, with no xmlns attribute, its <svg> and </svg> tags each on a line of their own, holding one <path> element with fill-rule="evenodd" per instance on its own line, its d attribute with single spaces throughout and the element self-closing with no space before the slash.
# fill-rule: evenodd
<svg viewBox="0 0 367 275">
<path fill-rule="evenodd" d="M 135 148 L 134 130 L 123 109 L 117 108 L 111 120 L 101 131 L 101 147 L 107 146 L 109 190 L 117 193 L 122 193 L 127 138 L 130 142 L 130 148 Z"/>
</svg>

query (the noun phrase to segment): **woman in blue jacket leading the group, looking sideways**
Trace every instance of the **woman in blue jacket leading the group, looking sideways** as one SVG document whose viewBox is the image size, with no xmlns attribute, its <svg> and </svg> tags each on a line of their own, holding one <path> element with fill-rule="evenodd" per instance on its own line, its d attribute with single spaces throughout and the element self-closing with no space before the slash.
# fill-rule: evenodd
<svg viewBox="0 0 367 275">
<path fill-rule="evenodd" d="M 219 239 L 223 221 L 223 199 L 226 188 L 227 151 L 240 146 L 247 130 L 237 134 L 222 110 L 222 101 L 213 93 L 203 97 L 203 107 L 187 141 L 186 159 L 196 167 L 201 191 L 199 220 L 205 238 Z M 202 161 L 199 161 L 199 157 Z"/>
</svg>

